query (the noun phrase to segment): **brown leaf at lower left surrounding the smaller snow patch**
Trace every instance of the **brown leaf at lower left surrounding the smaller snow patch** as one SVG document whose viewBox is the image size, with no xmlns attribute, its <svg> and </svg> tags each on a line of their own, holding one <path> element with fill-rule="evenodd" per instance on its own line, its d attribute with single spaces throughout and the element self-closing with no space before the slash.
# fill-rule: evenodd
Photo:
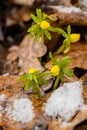
<svg viewBox="0 0 87 130">
<path fill-rule="evenodd" d="M 3 129 L 5 128 L 5 130 L 30 130 L 34 126 L 41 124 L 43 127 L 46 126 L 48 121 L 44 118 L 41 110 L 44 100 L 38 99 L 37 94 L 28 95 L 24 93 L 22 89 L 23 83 L 18 82 L 18 78 L 18 76 L 0 76 L 0 94 L 7 96 L 5 106 L 7 103 L 12 103 L 15 98 L 20 99 L 27 97 L 33 102 L 35 118 L 27 123 L 22 123 L 10 120 L 4 113 L 2 118 L 0 118 L 0 126 L 2 126 Z"/>
</svg>

